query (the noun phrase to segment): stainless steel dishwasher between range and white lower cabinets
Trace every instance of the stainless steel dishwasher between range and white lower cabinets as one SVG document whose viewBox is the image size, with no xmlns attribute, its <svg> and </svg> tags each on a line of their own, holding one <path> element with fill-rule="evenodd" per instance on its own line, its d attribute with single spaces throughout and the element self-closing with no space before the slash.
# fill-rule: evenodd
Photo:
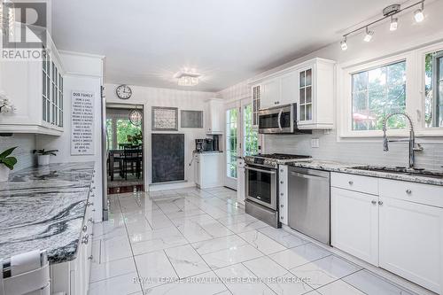
<svg viewBox="0 0 443 295">
<path fill-rule="evenodd" d="M 289 167 L 289 226 L 330 245 L 330 173 Z"/>
</svg>

